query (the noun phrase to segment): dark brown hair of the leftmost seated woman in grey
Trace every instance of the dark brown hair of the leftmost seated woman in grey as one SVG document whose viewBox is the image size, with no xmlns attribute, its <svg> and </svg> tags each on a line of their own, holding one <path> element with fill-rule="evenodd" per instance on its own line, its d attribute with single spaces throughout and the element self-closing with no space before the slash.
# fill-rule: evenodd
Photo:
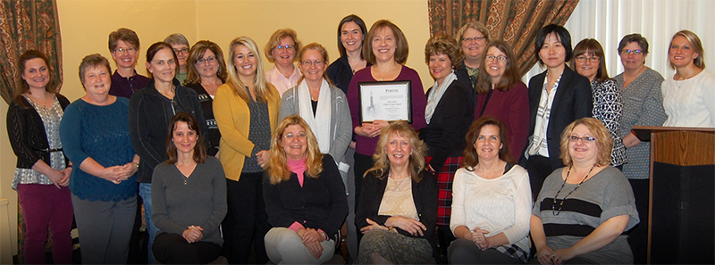
<svg viewBox="0 0 715 265">
<path fill-rule="evenodd" d="M 198 121 L 194 116 L 187 112 L 177 112 L 173 115 L 172 120 L 169 121 L 169 134 L 166 136 L 166 160 L 167 164 L 174 164 L 179 161 L 179 155 L 176 151 L 176 145 L 173 145 L 173 131 L 176 129 L 176 124 L 179 121 L 186 122 L 186 125 L 190 130 L 196 131 L 196 145 L 194 145 L 194 161 L 198 163 L 203 163 L 206 161 L 206 145 L 204 145 L 204 135 L 201 134 L 201 127 L 198 126 Z"/>
</svg>

